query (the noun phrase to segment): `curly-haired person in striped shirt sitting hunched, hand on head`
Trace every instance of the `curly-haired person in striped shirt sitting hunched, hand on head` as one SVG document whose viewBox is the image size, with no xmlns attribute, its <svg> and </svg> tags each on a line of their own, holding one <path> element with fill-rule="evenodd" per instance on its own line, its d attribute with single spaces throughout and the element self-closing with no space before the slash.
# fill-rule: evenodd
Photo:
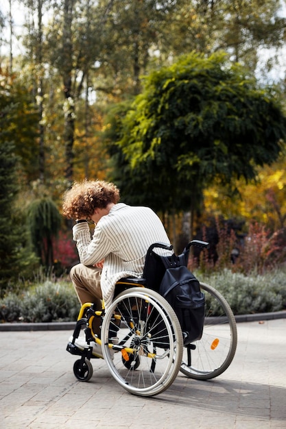
<svg viewBox="0 0 286 429">
<path fill-rule="evenodd" d="M 75 219 L 80 264 L 71 269 L 71 281 L 80 304 L 95 303 L 96 309 L 112 303 L 115 284 L 121 278 L 141 278 L 147 249 L 152 243 L 169 244 L 163 223 L 147 207 L 119 203 L 119 189 L 102 180 L 84 180 L 64 193 L 63 215 Z M 91 236 L 89 223 L 95 224 Z M 93 331 L 100 337 L 100 319 Z M 84 348 L 85 338 L 76 340 Z M 93 354 L 102 357 L 99 344 L 93 342 Z"/>
</svg>

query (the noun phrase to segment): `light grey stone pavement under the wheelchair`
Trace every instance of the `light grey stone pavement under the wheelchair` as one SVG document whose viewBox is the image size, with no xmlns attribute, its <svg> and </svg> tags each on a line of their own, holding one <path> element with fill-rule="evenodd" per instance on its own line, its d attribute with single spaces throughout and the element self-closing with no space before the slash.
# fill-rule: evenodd
<svg viewBox="0 0 286 429">
<path fill-rule="evenodd" d="M 178 374 L 167 391 L 136 397 L 93 359 L 78 382 L 72 330 L 0 332 L 0 428 L 286 428 L 286 319 L 237 324 L 237 353 L 214 380 Z"/>
</svg>

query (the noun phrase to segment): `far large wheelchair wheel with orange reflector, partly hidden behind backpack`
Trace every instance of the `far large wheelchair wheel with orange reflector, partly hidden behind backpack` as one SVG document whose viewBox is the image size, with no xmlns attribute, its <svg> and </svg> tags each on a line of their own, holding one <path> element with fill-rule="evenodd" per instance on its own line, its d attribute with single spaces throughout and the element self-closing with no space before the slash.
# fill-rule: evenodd
<svg viewBox="0 0 286 429">
<path fill-rule="evenodd" d="M 223 373 L 235 356 L 237 326 L 233 311 L 221 293 L 200 283 L 206 299 L 202 338 L 184 347 L 180 371 L 189 378 L 208 380 Z"/>
</svg>

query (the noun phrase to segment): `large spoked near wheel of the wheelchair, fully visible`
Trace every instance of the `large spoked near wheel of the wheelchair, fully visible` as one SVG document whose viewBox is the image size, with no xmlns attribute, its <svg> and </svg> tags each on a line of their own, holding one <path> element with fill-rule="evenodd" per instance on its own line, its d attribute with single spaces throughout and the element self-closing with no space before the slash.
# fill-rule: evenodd
<svg viewBox="0 0 286 429">
<path fill-rule="evenodd" d="M 113 378 L 130 393 L 153 396 L 165 391 L 180 370 L 182 349 L 178 318 L 158 293 L 141 287 L 127 289 L 106 311 L 104 359 Z"/>
</svg>

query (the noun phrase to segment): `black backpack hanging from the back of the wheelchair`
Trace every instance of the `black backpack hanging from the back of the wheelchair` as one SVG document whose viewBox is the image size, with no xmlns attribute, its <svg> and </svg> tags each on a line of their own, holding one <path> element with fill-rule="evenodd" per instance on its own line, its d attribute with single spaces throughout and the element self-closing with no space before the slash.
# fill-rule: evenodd
<svg viewBox="0 0 286 429">
<path fill-rule="evenodd" d="M 202 338 L 204 294 L 200 282 L 185 265 L 185 255 L 160 256 L 165 274 L 159 293 L 174 308 L 183 332 L 184 345 Z"/>
</svg>

